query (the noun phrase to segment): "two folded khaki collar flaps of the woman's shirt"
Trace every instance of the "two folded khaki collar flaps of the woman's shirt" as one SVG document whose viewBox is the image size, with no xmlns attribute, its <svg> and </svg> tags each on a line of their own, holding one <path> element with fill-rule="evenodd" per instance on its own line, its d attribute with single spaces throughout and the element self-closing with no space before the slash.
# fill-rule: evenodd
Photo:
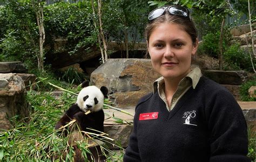
<svg viewBox="0 0 256 162">
<path fill-rule="evenodd" d="M 198 67 L 191 69 L 190 73 L 186 75 L 186 77 L 192 80 L 193 89 L 196 88 L 201 76 L 202 76 L 201 70 Z M 156 81 L 154 81 L 153 93 L 156 93 L 159 90 L 159 87 L 163 84 L 164 84 L 164 77 L 160 77 Z"/>
</svg>

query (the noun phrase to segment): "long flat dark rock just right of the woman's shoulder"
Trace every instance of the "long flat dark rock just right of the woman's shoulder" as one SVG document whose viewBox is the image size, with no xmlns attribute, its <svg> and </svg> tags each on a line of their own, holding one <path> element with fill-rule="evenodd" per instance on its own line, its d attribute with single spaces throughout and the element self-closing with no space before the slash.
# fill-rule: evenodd
<svg viewBox="0 0 256 162">
<path fill-rule="evenodd" d="M 245 71 L 205 70 L 204 75 L 219 84 L 241 85 L 247 79 Z"/>
</svg>

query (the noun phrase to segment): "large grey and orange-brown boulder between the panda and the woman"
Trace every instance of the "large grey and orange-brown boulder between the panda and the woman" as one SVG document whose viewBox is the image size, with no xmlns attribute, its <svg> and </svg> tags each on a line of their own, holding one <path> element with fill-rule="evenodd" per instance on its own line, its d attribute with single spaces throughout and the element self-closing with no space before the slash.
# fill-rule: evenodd
<svg viewBox="0 0 256 162">
<path fill-rule="evenodd" d="M 118 106 L 134 106 L 140 97 L 152 92 L 159 77 L 150 59 L 108 59 L 91 73 L 91 82 L 109 87 Z"/>
</svg>

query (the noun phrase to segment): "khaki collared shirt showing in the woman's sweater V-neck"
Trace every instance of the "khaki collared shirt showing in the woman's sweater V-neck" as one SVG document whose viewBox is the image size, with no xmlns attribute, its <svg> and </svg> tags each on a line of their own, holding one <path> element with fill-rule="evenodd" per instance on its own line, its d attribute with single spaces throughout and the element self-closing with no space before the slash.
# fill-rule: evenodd
<svg viewBox="0 0 256 162">
<path fill-rule="evenodd" d="M 193 89 L 196 88 L 197 83 L 199 82 L 200 77 L 202 76 L 201 70 L 196 67 L 190 71 L 184 77 L 180 80 L 176 92 L 174 92 L 171 100 L 171 105 L 168 105 L 167 99 L 165 97 L 164 89 L 164 78 L 160 77 L 153 83 L 153 93 L 156 93 L 158 91 L 160 98 L 165 102 L 166 109 L 168 111 L 171 111 L 173 107 L 176 105 L 176 103 L 179 101 L 179 99 L 186 93 L 188 89 L 192 86 Z"/>
</svg>

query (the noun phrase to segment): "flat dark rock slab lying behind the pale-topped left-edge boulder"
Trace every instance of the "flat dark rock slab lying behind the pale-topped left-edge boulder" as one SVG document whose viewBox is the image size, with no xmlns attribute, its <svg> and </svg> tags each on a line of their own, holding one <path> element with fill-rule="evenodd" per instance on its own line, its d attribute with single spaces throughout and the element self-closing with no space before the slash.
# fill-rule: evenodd
<svg viewBox="0 0 256 162">
<path fill-rule="evenodd" d="M 26 73 L 27 71 L 21 62 L 0 62 L 0 73 Z"/>
</svg>

